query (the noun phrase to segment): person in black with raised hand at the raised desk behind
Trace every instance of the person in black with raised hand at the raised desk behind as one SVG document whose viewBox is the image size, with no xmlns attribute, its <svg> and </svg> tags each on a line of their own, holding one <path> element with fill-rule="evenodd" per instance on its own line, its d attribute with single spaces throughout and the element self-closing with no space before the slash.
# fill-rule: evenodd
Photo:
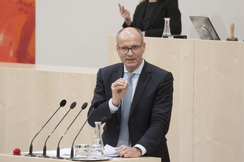
<svg viewBox="0 0 244 162">
<path fill-rule="evenodd" d="M 119 5 L 121 16 L 125 19 L 123 27 L 139 28 L 144 36 L 162 37 L 164 18 L 170 18 L 172 35 L 181 34 L 181 13 L 178 0 L 143 0 L 136 7 L 133 21 L 130 12 Z"/>
</svg>

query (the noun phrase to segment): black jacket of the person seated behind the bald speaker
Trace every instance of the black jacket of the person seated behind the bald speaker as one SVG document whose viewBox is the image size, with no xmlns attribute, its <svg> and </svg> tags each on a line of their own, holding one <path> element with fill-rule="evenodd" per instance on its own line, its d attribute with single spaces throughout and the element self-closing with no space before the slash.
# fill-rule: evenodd
<svg viewBox="0 0 244 162">
<path fill-rule="evenodd" d="M 131 25 L 132 27 L 139 28 L 141 31 L 144 31 L 143 18 L 147 8 L 147 3 L 148 1 L 144 1 L 136 7 Z M 153 17 L 150 21 L 150 27 L 145 31 L 145 36 L 162 37 L 165 17 L 170 17 L 171 34 L 181 34 L 181 13 L 178 8 L 178 1 L 163 0 L 158 1 L 157 3 Z M 123 27 L 125 28 L 128 26 L 124 23 Z"/>
</svg>

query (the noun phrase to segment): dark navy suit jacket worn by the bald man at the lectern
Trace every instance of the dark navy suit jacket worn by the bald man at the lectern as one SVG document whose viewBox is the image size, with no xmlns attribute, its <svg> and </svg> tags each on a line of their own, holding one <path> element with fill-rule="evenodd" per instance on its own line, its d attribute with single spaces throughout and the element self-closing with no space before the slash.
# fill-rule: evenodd
<svg viewBox="0 0 244 162">
<path fill-rule="evenodd" d="M 92 104 L 99 101 L 100 105 L 88 120 L 93 127 L 95 121 L 105 123 L 102 135 L 104 145 L 114 147 L 119 137 L 121 108 L 111 114 L 108 101 L 112 98 L 111 84 L 123 78 L 123 73 L 122 63 L 99 69 Z M 146 156 L 162 157 L 163 162 L 169 162 L 165 135 L 169 129 L 172 100 L 172 74 L 145 61 L 131 105 L 128 123 L 130 141 L 132 146 L 144 146 Z"/>
</svg>

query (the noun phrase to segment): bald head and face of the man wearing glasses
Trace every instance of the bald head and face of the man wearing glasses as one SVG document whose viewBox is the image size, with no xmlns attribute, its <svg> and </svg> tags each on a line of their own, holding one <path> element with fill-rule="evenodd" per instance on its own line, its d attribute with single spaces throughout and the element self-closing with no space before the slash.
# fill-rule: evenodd
<svg viewBox="0 0 244 162">
<path fill-rule="evenodd" d="M 123 30 L 118 36 L 117 51 L 120 60 L 129 72 L 133 72 L 141 65 L 145 46 L 145 43 L 142 44 L 140 34 L 133 28 Z M 121 49 L 126 48 L 132 48 L 132 50 L 127 50 L 127 53 L 122 52 Z"/>
</svg>

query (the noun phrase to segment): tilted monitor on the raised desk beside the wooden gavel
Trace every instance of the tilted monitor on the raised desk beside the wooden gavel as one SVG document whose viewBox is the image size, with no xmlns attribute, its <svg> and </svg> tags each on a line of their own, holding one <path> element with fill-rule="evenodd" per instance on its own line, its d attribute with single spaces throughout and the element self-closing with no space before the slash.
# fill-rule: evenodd
<svg viewBox="0 0 244 162">
<path fill-rule="evenodd" d="M 190 16 L 192 24 L 196 29 L 199 37 L 205 40 L 220 40 L 210 19 L 203 16 Z"/>
</svg>

